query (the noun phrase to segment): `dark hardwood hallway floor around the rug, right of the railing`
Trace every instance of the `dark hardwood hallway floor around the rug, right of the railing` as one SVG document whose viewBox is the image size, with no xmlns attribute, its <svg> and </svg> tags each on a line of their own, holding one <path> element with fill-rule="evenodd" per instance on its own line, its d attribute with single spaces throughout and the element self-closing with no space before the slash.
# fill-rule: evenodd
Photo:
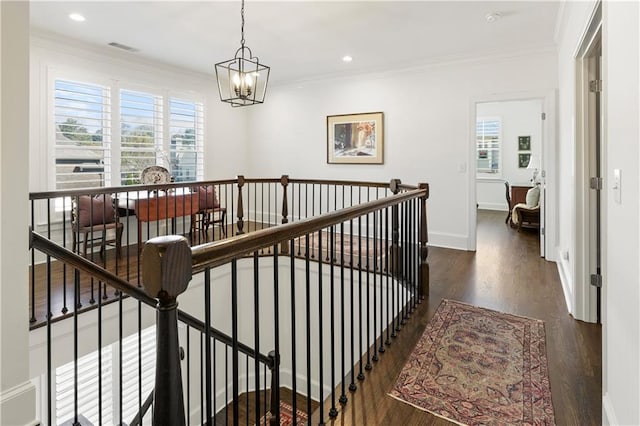
<svg viewBox="0 0 640 426">
<path fill-rule="evenodd" d="M 387 395 L 442 299 L 545 321 L 558 425 L 601 424 L 601 328 L 568 313 L 556 264 L 539 255 L 536 231 L 507 227 L 505 213 L 479 211 L 477 251 L 429 249 L 430 292 L 380 356 L 333 425 L 446 425 L 450 422 Z M 310 424 L 318 424 L 318 410 Z"/>
</svg>

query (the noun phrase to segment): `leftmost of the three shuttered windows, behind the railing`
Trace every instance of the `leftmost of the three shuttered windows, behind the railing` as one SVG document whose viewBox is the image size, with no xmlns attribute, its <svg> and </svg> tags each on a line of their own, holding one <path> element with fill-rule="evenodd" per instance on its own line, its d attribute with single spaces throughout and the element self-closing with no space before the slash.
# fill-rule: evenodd
<svg viewBox="0 0 640 426">
<path fill-rule="evenodd" d="M 110 184 L 110 90 L 55 80 L 56 189 Z"/>
</svg>

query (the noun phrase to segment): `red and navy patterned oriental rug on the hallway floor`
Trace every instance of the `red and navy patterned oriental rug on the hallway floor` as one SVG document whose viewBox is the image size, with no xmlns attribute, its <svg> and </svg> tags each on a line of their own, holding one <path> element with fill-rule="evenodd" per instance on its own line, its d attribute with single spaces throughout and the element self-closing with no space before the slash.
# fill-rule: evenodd
<svg viewBox="0 0 640 426">
<path fill-rule="evenodd" d="M 389 395 L 463 425 L 554 425 L 544 322 L 445 299 Z"/>
</svg>

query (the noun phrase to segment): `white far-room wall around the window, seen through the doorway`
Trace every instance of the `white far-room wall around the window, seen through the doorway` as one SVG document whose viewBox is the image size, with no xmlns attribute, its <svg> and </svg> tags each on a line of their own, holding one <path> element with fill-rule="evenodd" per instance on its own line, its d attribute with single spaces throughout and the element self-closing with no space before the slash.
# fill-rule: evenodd
<svg viewBox="0 0 640 426">
<path fill-rule="evenodd" d="M 482 102 L 478 117 L 498 117 L 502 123 L 502 174 L 499 178 L 478 178 L 476 200 L 479 208 L 507 210 L 504 181 L 511 185 L 531 185 L 533 170 L 518 167 L 518 136 L 531 137 L 531 152 L 538 159 L 542 152 L 542 100 Z"/>
</svg>

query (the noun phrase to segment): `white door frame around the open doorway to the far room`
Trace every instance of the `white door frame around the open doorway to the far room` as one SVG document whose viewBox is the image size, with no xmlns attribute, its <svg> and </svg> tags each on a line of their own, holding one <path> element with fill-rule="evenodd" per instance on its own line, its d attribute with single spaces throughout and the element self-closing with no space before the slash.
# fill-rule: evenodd
<svg viewBox="0 0 640 426">
<path fill-rule="evenodd" d="M 542 112 L 546 115 L 542 120 L 542 179 L 545 182 L 544 206 L 541 207 L 540 232 L 544 232 L 544 258 L 555 261 L 557 256 L 557 155 L 556 155 L 556 105 L 558 99 L 557 90 L 534 90 L 526 92 L 514 92 L 503 94 L 492 94 L 472 98 L 469 102 L 469 148 L 468 171 L 469 171 L 469 199 L 467 217 L 469 218 L 467 239 L 467 250 L 475 251 L 477 247 L 477 194 L 476 194 L 476 106 L 486 102 L 510 102 L 540 100 L 542 102 Z M 544 217 L 542 217 L 544 215 Z M 542 252 L 542 250 L 541 250 Z"/>
</svg>

